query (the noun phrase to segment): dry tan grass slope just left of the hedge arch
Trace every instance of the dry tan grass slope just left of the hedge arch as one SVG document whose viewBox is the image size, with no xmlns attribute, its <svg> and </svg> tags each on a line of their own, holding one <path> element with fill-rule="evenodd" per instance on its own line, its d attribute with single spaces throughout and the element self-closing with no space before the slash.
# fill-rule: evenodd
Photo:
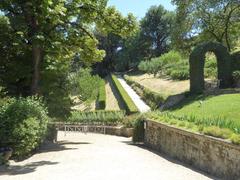
<svg viewBox="0 0 240 180">
<path fill-rule="evenodd" d="M 165 96 L 180 94 L 189 90 L 189 81 L 173 81 L 149 74 L 128 74 L 128 76 L 151 91 Z"/>
</svg>

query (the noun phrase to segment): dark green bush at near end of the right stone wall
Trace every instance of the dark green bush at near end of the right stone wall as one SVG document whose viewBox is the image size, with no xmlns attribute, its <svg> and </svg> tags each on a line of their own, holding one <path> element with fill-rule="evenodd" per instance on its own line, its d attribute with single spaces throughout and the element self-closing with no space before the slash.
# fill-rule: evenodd
<svg viewBox="0 0 240 180">
<path fill-rule="evenodd" d="M 138 118 L 134 123 L 132 141 L 133 142 L 144 141 L 144 120 L 142 117 Z"/>
</svg>

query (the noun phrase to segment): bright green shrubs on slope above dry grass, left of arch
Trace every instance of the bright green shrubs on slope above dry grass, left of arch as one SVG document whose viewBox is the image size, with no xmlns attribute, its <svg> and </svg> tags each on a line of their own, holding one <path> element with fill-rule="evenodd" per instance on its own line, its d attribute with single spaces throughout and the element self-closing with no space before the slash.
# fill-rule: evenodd
<svg viewBox="0 0 240 180">
<path fill-rule="evenodd" d="M 177 51 L 169 51 L 150 61 L 142 61 L 138 68 L 149 74 L 167 75 L 172 79 L 185 80 L 189 78 L 188 62 Z"/>
</svg>

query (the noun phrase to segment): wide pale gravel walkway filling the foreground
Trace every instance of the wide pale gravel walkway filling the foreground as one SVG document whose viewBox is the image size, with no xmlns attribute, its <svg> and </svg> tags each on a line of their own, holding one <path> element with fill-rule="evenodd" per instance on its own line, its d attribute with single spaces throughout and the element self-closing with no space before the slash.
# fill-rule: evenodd
<svg viewBox="0 0 240 180">
<path fill-rule="evenodd" d="M 59 132 L 29 159 L 0 168 L 1 180 L 205 180 L 205 175 L 147 149 L 129 138 Z"/>
</svg>

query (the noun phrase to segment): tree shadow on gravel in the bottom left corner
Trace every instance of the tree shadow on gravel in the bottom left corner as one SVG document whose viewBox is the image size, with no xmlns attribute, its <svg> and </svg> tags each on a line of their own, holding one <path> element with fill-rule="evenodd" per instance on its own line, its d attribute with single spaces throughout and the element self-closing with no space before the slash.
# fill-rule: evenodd
<svg viewBox="0 0 240 180">
<path fill-rule="evenodd" d="M 32 162 L 25 165 L 0 166 L 0 176 L 28 174 L 28 173 L 34 172 L 39 166 L 55 165 L 55 164 L 58 164 L 58 162 L 38 161 L 38 162 Z"/>
</svg>

